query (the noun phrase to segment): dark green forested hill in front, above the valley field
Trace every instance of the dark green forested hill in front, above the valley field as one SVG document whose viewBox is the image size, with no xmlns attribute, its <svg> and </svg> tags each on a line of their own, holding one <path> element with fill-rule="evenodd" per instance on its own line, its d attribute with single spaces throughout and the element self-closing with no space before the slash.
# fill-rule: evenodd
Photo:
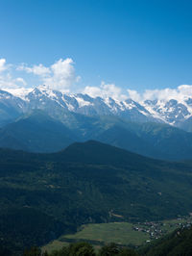
<svg viewBox="0 0 192 256">
<path fill-rule="evenodd" d="M 53 154 L 0 150 L 0 236 L 16 250 L 87 222 L 174 218 L 192 209 L 191 165 L 97 141 Z"/>
</svg>

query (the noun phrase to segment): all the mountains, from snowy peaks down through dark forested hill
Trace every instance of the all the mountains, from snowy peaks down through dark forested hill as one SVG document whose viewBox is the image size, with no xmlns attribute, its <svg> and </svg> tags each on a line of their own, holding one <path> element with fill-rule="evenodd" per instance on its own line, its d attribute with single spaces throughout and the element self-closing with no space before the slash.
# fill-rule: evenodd
<svg viewBox="0 0 192 256">
<path fill-rule="evenodd" d="M 1 90 L 0 246 L 191 213 L 190 104 Z"/>
</svg>

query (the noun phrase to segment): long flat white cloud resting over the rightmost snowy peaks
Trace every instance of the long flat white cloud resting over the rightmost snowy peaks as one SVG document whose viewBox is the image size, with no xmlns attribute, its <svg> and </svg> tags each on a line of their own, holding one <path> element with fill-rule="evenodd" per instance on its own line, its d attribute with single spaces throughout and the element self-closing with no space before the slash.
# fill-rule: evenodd
<svg viewBox="0 0 192 256">
<path fill-rule="evenodd" d="M 129 96 L 135 101 L 149 100 L 161 100 L 167 101 L 170 99 L 176 99 L 179 102 L 192 97 L 192 85 L 181 85 L 177 89 L 162 89 L 162 90 L 145 90 L 143 93 L 139 93 L 136 90 L 127 90 Z"/>
</svg>

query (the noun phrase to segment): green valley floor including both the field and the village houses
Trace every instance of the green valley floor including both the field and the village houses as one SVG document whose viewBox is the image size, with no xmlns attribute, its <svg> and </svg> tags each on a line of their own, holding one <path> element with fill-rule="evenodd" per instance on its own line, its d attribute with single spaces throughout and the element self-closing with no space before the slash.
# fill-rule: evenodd
<svg viewBox="0 0 192 256">
<path fill-rule="evenodd" d="M 105 243 L 139 246 L 174 231 L 180 225 L 191 222 L 192 218 L 178 218 L 136 224 L 129 222 L 86 224 L 81 226 L 77 233 L 61 236 L 58 240 L 43 246 L 42 249 L 50 252 L 68 243 L 80 241 L 92 243 L 96 248 Z"/>
</svg>

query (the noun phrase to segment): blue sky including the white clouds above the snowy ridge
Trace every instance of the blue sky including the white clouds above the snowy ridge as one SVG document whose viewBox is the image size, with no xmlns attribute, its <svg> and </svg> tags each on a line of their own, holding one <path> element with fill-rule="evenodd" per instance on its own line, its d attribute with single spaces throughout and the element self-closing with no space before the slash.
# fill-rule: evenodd
<svg viewBox="0 0 192 256">
<path fill-rule="evenodd" d="M 0 88 L 191 93 L 191 13 L 190 0 L 0 0 Z"/>
</svg>

